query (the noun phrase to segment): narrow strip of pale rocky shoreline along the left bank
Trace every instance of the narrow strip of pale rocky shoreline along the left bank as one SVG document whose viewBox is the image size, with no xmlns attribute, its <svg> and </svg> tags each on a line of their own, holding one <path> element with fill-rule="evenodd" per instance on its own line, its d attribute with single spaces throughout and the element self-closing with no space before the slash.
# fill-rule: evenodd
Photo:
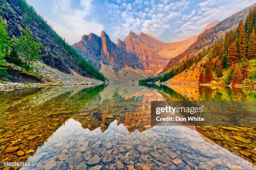
<svg viewBox="0 0 256 170">
<path fill-rule="evenodd" d="M 22 89 L 29 87 L 57 87 L 57 86 L 72 86 L 72 85 L 100 85 L 105 82 L 79 82 L 79 83 L 60 83 L 60 82 L 46 82 L 46 83 L 20 83 L 10 82 L 10 84 L 0 83 L 0 91 L 9 91 L 14 89 Z"/>
</svg>

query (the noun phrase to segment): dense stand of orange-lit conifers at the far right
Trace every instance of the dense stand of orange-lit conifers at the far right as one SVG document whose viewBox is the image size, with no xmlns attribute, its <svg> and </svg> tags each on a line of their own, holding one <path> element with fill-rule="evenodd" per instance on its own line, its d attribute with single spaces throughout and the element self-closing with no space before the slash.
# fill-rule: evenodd
<svg viewBox="0 0 256 170">
<path fill-rule="evenodd" d="M 208 60 L 203 65 L 199 83 L 209 83 L 215 74 L 216 81 L 225 85 L 255 83 L 256 72 L 249 71 L 256 59 L 256 9 L 252 9 L 245 22 L 228 31 L 225 38 L 217 40 L 208 50 Z M 255 69 L 255 67 L 254 67 Z"/>
</svg>

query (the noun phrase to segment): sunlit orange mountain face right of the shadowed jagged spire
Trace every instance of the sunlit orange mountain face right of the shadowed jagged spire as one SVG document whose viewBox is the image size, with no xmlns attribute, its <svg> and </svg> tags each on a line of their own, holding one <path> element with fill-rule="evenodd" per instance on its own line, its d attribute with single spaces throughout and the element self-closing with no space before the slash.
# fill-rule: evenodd
<svg viewBox="0 0 256 170">
<path fill-rule="evenodd" d="M 163 69 L 170 58 L 185 50 L 195 42 L 196 37 L 189 38 L 180 42 L 164 43 L 143 32 L 136 35 L 130 32 L 123 40 L 125 51 L 138 56 L 144 70 L 151 70 L 158 73 Z"/>
</svg>

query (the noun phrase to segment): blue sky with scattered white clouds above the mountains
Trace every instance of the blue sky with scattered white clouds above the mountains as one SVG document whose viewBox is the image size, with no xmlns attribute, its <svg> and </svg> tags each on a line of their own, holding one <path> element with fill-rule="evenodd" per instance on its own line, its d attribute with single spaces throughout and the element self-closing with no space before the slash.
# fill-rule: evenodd
<svg viewBox="0 0 256 170">
<path fill-rule="evenodd" d="M 113 42 L 130 31 L 163 42 L 199 34 L 209 23 L 224 20 L 254 0 L 27 0 L 70 44 L 104 30 Z"/>
</svg>

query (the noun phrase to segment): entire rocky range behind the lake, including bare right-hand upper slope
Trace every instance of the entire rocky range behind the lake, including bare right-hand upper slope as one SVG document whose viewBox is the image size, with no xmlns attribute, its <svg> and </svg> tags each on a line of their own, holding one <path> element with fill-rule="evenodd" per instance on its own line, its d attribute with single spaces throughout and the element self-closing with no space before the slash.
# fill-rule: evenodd
<svg viewBox="0 0 256 170">
<path fill-rule="evenodd" d="M 115 45 L 102 31 L 101 37 L 93 33 L 84 35 L 73 47 L 109 80 L 139 80 L 168 72 L 169 67 L 207 49 L 218 37 L 235 28 L 239 20 L 245 19 L 253 6 L 221 22 L 215 20 L 199 35 L 179 42 L 165 43 L 143 32 L 139 35 L 130 32 L 124 40 L 118 39 Z"/>
</svg>

